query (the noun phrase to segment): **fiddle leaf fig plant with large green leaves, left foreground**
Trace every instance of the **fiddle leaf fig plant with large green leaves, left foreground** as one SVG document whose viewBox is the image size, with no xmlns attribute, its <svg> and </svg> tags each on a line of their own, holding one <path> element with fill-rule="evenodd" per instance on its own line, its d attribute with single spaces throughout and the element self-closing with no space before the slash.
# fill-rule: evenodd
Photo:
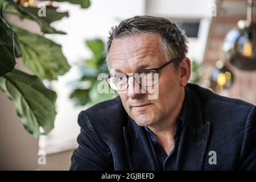
<svg viewBox="0 0 256 182">
<path fill-rule="evenodd" d="M 39 16 L 39 7 L 28 0 L 0 0 L 0 89 L 14 102 L 23 126 L 35 138 L 48 134 L 54 127 L 56 93 L 46 88 L 43 81 L 57 80 L 69 71 L 69 64 L 61 46 L 47 39 L 44 34 L 65 34 L 55 30 L 50 23 L 68 16 L 58 12 L 53 2 L 69 2 L 85 9 L 89 0 L 40 1 L 46 5 L 46 16 Z M 38 24 L 42 34 L 24 30 L 10 24 L 5 14 L 30 19 Z M 16 58 L 34 74 L 29 75 L 15 68 Z"/>
</svg>

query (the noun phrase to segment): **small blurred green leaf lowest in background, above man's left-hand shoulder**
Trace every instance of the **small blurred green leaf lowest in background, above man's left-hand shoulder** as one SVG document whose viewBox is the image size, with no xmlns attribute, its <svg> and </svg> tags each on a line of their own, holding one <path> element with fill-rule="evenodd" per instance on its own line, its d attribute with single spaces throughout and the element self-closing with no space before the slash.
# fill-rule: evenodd
<svg viewBox="0 0 256 182">
<path fill-rule="evenodd" d="M 89 89 L 76 89 L 71 93 L 70 98 L 75 100 L 76 105 L 84 106 L 90 102 Z"/>
</svg>

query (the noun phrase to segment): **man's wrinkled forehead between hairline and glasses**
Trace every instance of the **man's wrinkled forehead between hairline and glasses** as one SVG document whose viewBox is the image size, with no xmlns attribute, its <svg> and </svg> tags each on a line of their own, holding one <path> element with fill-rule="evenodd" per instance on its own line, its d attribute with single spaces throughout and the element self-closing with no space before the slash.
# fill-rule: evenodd
<svg viewBox="0 0 256 182">
<path fill-rule="evenodd" d="M 136 71 L 140 65 L 148 67 L 164 63 L 161 38 L 158 34 L 139 34 L 114 39 L 109 49 L 110 68 Z"/>
</svg>

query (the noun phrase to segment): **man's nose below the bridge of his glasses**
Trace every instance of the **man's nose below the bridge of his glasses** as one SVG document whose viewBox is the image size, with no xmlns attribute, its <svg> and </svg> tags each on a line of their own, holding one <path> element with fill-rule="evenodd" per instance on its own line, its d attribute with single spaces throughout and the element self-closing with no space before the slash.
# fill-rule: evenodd
<svg viewBox="0 0 256 182">
<path fill-rule="evenodd" d="M 146 90 L 144 90 L 134 79 L 134 77 L 128 78 L 128 88 L 127 88 L 127 97 L 131 99 L 136 99 L 145 94 Z"/>
</svg>

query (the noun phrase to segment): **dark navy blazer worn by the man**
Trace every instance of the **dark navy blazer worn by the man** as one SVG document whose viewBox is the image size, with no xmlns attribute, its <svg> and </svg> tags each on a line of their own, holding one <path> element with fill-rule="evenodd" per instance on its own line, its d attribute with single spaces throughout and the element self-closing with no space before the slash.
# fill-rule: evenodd
<svg viewBox="0 0 256 182">
<path fill-rule="evenodd" d="M 177 170 L 255 170 L 256 106 L 218 96 L 194 84 L 177 148 Z M 71 170 L 156 170 L 143 127 L 131 119 L 119 97 L 79 114 L 79 147 Z M 216 164 L 212 152 L 216 152 Z"/>
</svg>

